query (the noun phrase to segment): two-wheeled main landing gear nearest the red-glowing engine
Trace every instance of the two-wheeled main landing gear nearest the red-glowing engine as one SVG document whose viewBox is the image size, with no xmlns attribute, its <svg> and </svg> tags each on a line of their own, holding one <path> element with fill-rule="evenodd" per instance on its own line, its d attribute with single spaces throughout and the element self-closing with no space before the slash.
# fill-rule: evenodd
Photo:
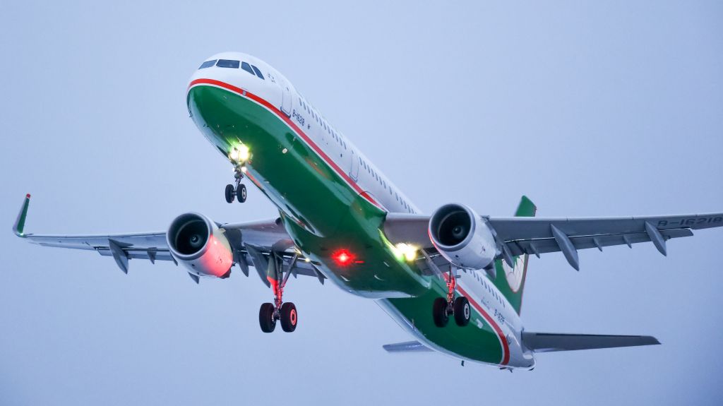
<svg viewBox="0 0 723 406">
<path fill-rule="evenodd" d="M 283 256 L 271 252 L 266 278 L 273 289 L 274 303 L 263 303 L 259 309 L 259 325 L 262 332 L 273 332 L 276 321 L 281 321 L 281 329 L 285 332 L 293 332 L 296 329 L 296 323 L 299 321 L 296 306 L 291 302 L 283 303 L 282 300 L 283 288 L 286 286 L 288 276 L 291 275 L 291 269 L 296 264 L 296 259 L 299 259 L 299 254 L 294 254 L 284 272 Z"/>
</svg>

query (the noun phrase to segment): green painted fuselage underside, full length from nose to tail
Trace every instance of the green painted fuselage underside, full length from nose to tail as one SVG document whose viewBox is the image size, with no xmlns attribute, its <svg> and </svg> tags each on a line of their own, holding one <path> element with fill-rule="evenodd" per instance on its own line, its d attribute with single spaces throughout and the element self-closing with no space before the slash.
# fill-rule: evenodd
<svg viewBox="0 0 723 406">
<path fill-rule="evenodd" d="M 473 307 L 466 327 L 453 322 L 436 327 L 432 303 L 446 296 L 446 282 L 423 275 L 415 262 L 398 257 L 380 231 L 388 212 L 382 199 L 360 192 L 346 168 L 340 171 L 315 144 L 319 140 L 304 134 L 310 125 L 293 121 L 295 113 L 287 115 L 283 106 L 277 108 L 246 87 L 209 77 L 194 75 L 189 85 L 193 121 L 226 159 L 239 144 L 248 147 L 247 177 L 278 207 L 296 247 L 320 272 L 349 293 L 375 299 L 401 327 L 435 350 L 502 366 L 531 365 L 510 363 L 511 330 L 483 315 L 480 305 Z M 344 147 L 351 153 L 346 142 Z M 341 249 L 354 254 L 351 263 L 335 262 L 333 254 Z"/>
</svg>

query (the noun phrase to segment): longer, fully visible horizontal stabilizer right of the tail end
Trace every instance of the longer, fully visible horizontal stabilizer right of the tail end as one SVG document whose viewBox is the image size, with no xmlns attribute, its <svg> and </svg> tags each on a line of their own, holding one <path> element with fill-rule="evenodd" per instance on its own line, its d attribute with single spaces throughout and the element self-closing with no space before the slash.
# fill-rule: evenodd
<svg viewBox="0 0 723 406">
<path fill-rule="evenodd" d="M 534 332 L 523 332 L 522 342 L 525 347 L 536 353 L 660 344 L 655 337 L 649 335 L 550 334 Z"/>
</svg>

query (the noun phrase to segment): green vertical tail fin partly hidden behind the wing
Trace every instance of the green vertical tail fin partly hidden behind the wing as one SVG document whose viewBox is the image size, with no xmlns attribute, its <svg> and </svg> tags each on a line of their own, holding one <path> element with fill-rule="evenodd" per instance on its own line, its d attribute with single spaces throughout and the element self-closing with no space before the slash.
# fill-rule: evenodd
<svg viewBox="0 0 723 406">
<path fill-rule="evenodd" d="M 537 207 L 535 204 L 527 198 L 522 196 L 520 204 L 515 212 L 515 217 L 535 217 Z M 502 295 L 510 302 L 515 308 L 517 314 L 520 314 L 522 308 L 522 293 L 525 289 L 525 276 L 527 273 L 527 254 L 521 256 L 515 256 L 515 266 L 510 268 L 507 262 L 497 259 L 495 261 L 495 270 L 497 277 L 495 278 L 495 286 L 500 290 Z"/>
</svg>

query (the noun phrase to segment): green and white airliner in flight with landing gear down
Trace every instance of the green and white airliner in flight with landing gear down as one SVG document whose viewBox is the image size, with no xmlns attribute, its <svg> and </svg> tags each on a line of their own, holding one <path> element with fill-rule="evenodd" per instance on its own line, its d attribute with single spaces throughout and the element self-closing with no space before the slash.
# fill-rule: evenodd
<svg viewBox="0 0 723 406">
<path fill-rule="evenodd" d="M 31 243 L 97 251 L 128 273 L 131 259 L 181 264 L 196 283 L 253 267 L 273 293 L 259 311 L 262 332 L 293 332 L 291 275 L 330 280 L 380 305 L 414 337 L 390 353 L 436 351 L 500 369 L 535 366 L 551 351 L 656 345 L 638 335 L 528 332 L 521 321 L 531 255 L 561 252 L 580 269 L 578 250 L 651 242 L 667 255 L 671 238 L 723 225 L 723 213 L 607 218 L 535 217 L 523 196 L 513 217 L 444 204 L 424 215 L 280 72 L 254 56 L 218 53 L 190 78 L 187 107 L 201 134 L 234 168 L 226 202 L 245 202 L 244 180 L 278 217 L 216 223 L 197 212 L 167 230 L 87 236 L 25 232 L 30 194 L 14 233 Z"/>
</svg>

